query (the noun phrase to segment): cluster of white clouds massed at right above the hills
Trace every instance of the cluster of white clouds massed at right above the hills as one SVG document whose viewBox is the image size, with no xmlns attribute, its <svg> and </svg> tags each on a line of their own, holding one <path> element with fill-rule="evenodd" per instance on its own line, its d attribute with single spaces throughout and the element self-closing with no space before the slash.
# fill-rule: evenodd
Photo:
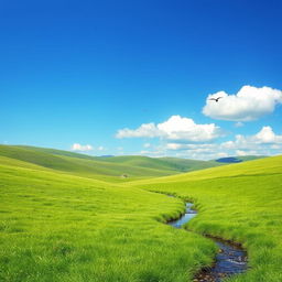
<svg viewBox="0 0 282 282">
<path fill-rule="evenodd" d="M 216 98 L 221 97 L 217 100 Z M 214 99 L 212 99 L 214 98 Z M 257 120 L 274 111 L 282 104 L 282 91 L 271 87 L 243 86 L 237 94 L 218 91 L 208 95 L 203 113 L 218 120 L 235 121 L 235 128 Z M 245 130 L 246 131 L 246 130 Z M 229 141 L 220 141 L 225 132 L 215 123 L 198 124 L 191 118 L 172 116 L 161 123 L 143 123 L 135 129 L 123 128 L 116 138 L 155 138 L 159 145 L 144 143 L 148 155 L 176 155 L 210 160 L 228 155 L 278 154 L 282 152 L 282 135 L 270 126 L 262 127 L 253 135 L 237 134 Z M 218 140 L 217 140 L 218 139 Z"/>
</svg>

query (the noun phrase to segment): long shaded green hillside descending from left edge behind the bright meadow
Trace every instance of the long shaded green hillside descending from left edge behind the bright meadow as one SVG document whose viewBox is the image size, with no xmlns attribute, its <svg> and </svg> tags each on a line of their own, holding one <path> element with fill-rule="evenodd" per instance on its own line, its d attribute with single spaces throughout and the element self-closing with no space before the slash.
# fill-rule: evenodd
<svg viewBox="0 0 282 282">
<path fill-rule="evenodd" d="M 84 156 L 72 152 L 32 147 L 0 145 L 0 155 L 85 177 L 110 180 L 109 176 L 112 176 L 113 181 L 122 181 L 120 180 L 122 174 L 128 174 L 131 178 L 177 173 L 176 171 L 164 170 L 163 167 L 138 167 L 122 163 L 104 162 L 99 161 L 99 158 Z"/>
</svg>

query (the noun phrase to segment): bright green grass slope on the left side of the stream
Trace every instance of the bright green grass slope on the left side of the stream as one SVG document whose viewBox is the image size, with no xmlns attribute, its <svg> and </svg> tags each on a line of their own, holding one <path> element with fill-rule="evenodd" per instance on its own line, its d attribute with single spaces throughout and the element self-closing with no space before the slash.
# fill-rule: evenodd
<svg viewBox="0 0 282 282">
<path fill-rule="evenodd" d="M 24 167 L 25 166 L 25 167 Z M 0 281 L 184 282 L 215 247 L 181 200 L 0 158 Z"/>
</svg>

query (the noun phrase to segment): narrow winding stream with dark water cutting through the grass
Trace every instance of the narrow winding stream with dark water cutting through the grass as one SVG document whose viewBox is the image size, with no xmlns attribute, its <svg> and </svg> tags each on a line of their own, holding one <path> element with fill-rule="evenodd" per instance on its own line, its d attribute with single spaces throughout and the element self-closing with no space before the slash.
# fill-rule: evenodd
<svg viewBox="0 0 282 282">
<path fill-rule="evenodd" d="M 192 207 L 192 203 L 186 203 L 185 214 L 182 215 L 178 219 L 171 220 L 167 224 L 175 228 L 181 228 L 184 224 L 188 223 L 193 217 L 197 215 L 197 212 Z M 216 254 L 213 265 L 202 269 L 194 276 L 193 281 L 220 282 L 224 278 L 239 274 L 247 270 L 247 252 L 239 243 L 210 236 L 206 237 L 216 242 L 216 245 L 219 247 L 219 252 Z"/>
</svg>

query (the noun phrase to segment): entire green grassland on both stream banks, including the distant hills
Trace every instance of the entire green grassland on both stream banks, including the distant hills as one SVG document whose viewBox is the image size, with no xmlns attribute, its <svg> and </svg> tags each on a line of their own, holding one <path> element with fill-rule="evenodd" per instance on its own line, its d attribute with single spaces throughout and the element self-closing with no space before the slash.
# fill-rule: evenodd
<svg viewBox="0 0 282 282">
<path fill-rule="evenodd" d="M 229 281 L 281 282 L 282 156 L 218 165 L 1 145 L 0 281 L 193 281 L 209 234 L 248 250 Z M 181 198 L 199 212 L 189 231 L 164 224 Z"/>
</svg>

